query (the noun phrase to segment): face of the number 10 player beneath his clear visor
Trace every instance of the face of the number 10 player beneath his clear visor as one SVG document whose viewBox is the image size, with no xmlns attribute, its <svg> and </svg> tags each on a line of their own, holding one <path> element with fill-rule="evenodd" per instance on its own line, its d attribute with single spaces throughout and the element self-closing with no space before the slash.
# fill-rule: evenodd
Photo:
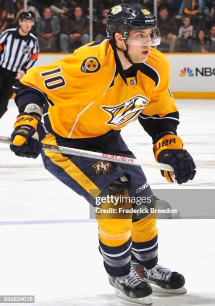
<svg viewBox="0 0 215 306">
<path fill-rule="evenodd" d="M 137 62 L 145 62 L 151 45 L 151 29 L 131 31 L 128 36 L 128 55 L 130 59 Z"/>
</svg>

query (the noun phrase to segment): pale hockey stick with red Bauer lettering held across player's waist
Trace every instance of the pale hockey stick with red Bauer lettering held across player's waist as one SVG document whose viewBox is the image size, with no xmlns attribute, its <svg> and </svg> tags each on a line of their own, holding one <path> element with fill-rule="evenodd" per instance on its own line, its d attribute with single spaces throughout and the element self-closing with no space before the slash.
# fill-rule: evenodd
<svg viewBox="0 0 215 306">
<path fill-rule="evenodd" d="M 0 142 L 12 144 L 12 141 L 9 137 L 0 136 Z M 50 145 L 50 144 L 45 144 L 45 143 L 42 143 L 42 150 L 60 152 L 63 154 L 77 155 L 77 156 L 82 156 L 82 157 L 102 159 L 102 160 L 108 160 L 108 161 L 114 161 L 114 162 L 120 162 L 120 163 L 125 163 L 125 164 L 146 166 L 149 168 L 171 171 L 172 172 L 171 174 L 174 175 L 173 168 L 169 164 L 160 163 L 160 162 L 146 161 L 146 160 L 140 160 L 140 159 L 125 157 L 125 156 L 86 151 L 86 150 L 81 150 L 81 149 L 76 149 L 76 148 L 70 148 L 70 147 L 65 147 L 65 146 L 60 146 L 60 145 Z"/>
</svg>

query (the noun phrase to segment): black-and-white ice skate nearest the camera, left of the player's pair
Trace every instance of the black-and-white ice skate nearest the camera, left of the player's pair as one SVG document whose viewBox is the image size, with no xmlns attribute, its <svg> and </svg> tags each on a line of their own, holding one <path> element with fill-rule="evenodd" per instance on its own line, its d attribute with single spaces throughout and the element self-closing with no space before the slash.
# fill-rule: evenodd
<svg viewBox="0 0 215 306">
<path fill-rule="evenodd" d="M 129 274 L 125 276 L 108 275 L 108 278 L 118 297 L 140 305 L 152 305 L 150 285 L 143 281 L 133 268 L 130 268 Z"/>
</svg>

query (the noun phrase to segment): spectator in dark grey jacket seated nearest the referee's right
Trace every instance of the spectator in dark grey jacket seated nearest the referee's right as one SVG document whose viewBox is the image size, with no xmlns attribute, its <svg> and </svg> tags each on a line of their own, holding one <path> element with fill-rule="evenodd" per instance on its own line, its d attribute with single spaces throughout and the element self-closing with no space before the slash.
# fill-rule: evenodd
<svg viewBox="0 0 215 306">
<path fill-rule="evenodd" d="M 43 8 L 43 17 L 36 24 L 36 34 L 41 52 L 56 52 L 56 38 L 60 32 L 57 16 L 51 14 L 50 7 Z"/>
</svg>

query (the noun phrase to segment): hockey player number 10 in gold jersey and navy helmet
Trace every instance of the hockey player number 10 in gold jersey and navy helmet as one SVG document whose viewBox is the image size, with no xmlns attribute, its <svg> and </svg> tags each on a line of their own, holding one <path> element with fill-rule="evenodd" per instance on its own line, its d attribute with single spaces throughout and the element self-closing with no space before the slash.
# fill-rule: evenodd
<svg viewBox="0 0 215 306">
<path fill-rule="evenodd" d="M 10 148 L 18 156 L 36 158 L 41 153 L 45 168 L 90 203 L 97 195 L 144 196 L 150 199 L 145 205 L 154 207 L 140 167 L 41 152 L 42 140 L 134 157 L 120 129 L 138 118 L 152 137 L 155 159 L 173 167 L 177 183 L 193 179 L 195 164 L 176 135 L 179 119 L 168 89 L 169 64 L 151 47 L 160 40 L 155 16 L 141 4 L 116 5 L 108 14 L 107 33 L 107 39 L 82 46 L 72 56 L 29 69 L 15 84 L 19 115 Z M 168 171 L 162 175 L 172 182 Z M 99 251 L 117 295 L 150 303 L 149 283 L 165 293 L 185 293 L 183 275 L 157 264 L 156 216 L 125 215 L 120 209 L 105 215 L 105 208 L 114 204 L 102 202 L 96 218 Z M 122 200 L 116 206 L 135 204 Z"/>
</svg>

